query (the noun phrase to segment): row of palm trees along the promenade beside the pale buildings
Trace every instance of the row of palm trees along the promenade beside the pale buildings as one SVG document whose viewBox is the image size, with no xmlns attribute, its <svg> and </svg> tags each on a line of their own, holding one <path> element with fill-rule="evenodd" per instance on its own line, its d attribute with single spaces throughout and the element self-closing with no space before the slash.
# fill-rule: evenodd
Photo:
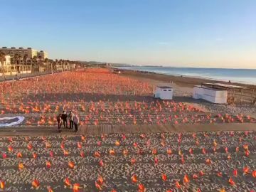
<svg viewBox="0 0 256 192">
<path fill-rule="evenodd" d="M 0 52 L 1 71 L 4 70 L 5 56 L 5 53 Z M 70 61 L 63 59 L 52 60 L 48 58 L 42 58 L 41 55 L 39 55 L 38 57 L 34 56 L 33 58 L 29 58 L 28 54 L 23 56 L 15 54 L 14 57 L 11 58 L 11 64 L 18 67 L 21 65 L 31 65 L 32 71 L 39 71 L 41 69 L 46 71 L 58 69 L 69 70 L 71 68 L 78 68 L 78 66 L 80 66 L 80 63 L 78 61 Z"/>
</svg>

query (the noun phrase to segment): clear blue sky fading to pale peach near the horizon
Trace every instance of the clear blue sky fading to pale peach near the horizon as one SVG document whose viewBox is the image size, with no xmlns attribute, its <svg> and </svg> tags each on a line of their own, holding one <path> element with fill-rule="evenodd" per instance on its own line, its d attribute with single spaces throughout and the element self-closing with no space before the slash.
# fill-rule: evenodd
<svg viewBox="0 0 256 192">
<path fill-rule="evenodd" d="M 50 58 L 256 68 L 256 1 L 1 0 L 0 46 Z"/>
</svg>

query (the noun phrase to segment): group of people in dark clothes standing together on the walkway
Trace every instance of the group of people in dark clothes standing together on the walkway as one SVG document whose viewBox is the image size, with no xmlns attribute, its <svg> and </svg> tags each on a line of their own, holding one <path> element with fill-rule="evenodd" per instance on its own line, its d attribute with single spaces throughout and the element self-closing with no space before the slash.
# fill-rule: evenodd
<svg viewBox="0 0 256 192">
<path fill-rule="evenodd" d="M 60 132 L 60 128 L 63 124 L 65 129 L 73 129 L 75 127 L 75 132 L 78 132 L 78 124 L 79 124 L 79 118 L 77 114 L 74 114 L 72 111 L 70 111 L 69 114 L 67 112 L 63 111 L 63 113 L 60 113 L 57 117 L 58 122 L 58 130 Z M 69 127 L 68 127 L 69 122 Z"/>
</svg>

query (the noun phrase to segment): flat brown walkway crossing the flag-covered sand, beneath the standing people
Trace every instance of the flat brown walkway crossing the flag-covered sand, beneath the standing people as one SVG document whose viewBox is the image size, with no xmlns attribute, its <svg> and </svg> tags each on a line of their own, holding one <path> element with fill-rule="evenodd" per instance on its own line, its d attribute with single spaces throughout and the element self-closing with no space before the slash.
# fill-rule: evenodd
<svg viewBox="0 0 256 192">
<path fill-rule="evenodd" d="M 55 134 L 111 134 L 111 133 L 160 133 L 160 132 L 216 132 L 216 131 L 256 131 L 255 123 L 229 124 L 162 124 L 162 125 L 82 125 L 78 132 L 57 127 L 9 127 L 0 129 L 1 136 L 41 136 Z"/>
</svg>

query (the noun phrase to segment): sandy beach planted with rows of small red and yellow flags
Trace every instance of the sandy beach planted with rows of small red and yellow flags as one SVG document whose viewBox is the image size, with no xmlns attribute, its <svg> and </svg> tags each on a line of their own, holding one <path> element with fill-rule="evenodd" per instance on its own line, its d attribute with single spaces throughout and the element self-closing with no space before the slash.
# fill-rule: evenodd
<svg viewBox="0 0 256 192">
<path fill-rule="evenodd" d="M 201 81 L 92 68 L 2 82 L 0 191 L 255 190 L 255 106 L 193 100 Z M 58 132 L 63 110 L 78 132 Z"/>
</svg>

